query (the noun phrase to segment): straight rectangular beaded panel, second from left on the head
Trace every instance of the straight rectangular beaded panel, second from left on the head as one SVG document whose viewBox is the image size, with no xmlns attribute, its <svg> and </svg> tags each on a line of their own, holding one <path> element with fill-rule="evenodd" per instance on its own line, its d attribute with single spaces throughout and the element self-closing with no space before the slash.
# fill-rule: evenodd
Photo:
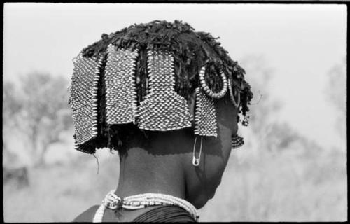
<svg viewBox="0 0 350 224">
<path fill-rule="evenodd" d="M 106 116 L 108 124 L 135 122 L 137 92 L 134 80 L 139 50 L 116 50 L 109 45 L 106 62 Z"/>
</svg>

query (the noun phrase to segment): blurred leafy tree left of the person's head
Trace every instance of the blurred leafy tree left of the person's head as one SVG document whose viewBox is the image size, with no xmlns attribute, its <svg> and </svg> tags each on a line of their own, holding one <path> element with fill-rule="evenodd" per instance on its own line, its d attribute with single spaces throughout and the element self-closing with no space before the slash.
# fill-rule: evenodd
<svg viewBox="0 0 350 224">
<path fill-rule="evenodd" d="M 22 106 L 18 127 L 30 143 L 34 165 L 43 165 L 48 146 L 61 141 L 61 132 L 71 127 L 68 82 L 62 76 L 31 73 L 20 79 L 20 85 Z"/>
</svg>

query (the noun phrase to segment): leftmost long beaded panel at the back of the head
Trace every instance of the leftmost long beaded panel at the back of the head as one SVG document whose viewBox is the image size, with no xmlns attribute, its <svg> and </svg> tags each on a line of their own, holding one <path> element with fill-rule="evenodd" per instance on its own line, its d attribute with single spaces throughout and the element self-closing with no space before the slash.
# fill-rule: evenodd
<svg viewBox="0 0 350 224">
<path fill-rule="evenodd" d="M 75 148 L 92 153 L 94 149 L 81 147 L 90 139 L 97 137 L 97 85 L 102 59 L 80 57 L 74 61 L 71 79 L 70 104 L 73 111 Z"/>
</svg>

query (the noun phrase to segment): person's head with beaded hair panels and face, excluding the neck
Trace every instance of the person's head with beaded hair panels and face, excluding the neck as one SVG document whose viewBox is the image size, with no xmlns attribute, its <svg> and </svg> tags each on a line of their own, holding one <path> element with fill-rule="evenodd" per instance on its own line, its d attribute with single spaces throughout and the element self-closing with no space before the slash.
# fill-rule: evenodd
<svg viewBox="0 0 350 224">
<path fill-rule="evenodd" d="M 231 148 L 243 144 L 237 125 L 248 125 L 253 97 L 244 74 L 216 38 L 183 22 L 103 34 L 74 61 L 76 149 L 110 148 L 143 169 L 181 163 L 187 200 L 202 207 L 208 199 L 196 194 L 214 195 Z"/>
</svg>

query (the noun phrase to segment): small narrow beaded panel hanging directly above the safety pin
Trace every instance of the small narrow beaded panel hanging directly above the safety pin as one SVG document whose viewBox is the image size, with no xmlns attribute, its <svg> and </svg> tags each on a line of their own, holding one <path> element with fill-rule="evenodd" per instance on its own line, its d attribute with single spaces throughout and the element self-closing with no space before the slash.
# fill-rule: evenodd
<svg viewBox="0 0 350 224">
<path fill-rule="evenodd" d="M 213 99 L 207 97 L 200 87 L 195 90 L 195 134 L 217 137 L 216 113 Z"/>
</svg>

